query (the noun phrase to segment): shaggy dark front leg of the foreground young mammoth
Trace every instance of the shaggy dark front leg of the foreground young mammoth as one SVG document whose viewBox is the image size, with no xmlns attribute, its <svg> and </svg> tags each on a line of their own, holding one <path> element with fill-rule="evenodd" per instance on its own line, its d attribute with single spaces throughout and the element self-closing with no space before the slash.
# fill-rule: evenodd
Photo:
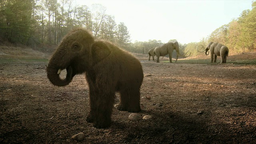
<svg viewBox="0 0 256 144">
<path fill-rule="evenodd" d="M 86 121 L 93 123 L 95 128 L 110 126 L 114 97 L 114 92 L 90 90 L 90 112 Z"/>
</svg>

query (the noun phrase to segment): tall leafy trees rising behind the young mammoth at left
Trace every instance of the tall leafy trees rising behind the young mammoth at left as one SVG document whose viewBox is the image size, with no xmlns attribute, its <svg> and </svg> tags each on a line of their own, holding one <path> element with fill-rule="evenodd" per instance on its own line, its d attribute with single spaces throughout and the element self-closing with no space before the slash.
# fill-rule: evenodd
<svg viewBox="0 0 256 144">
<path fill-rule="evenodd" d="M 84 27 L 96 38 L 131 47 L 124 23 L 116 26 L 114 16 L 100 4 L 75 6 L 74 0 L 0 1 L 0 38 L 14 44 L 58 44 L 75 27 Z"/>
</svg>

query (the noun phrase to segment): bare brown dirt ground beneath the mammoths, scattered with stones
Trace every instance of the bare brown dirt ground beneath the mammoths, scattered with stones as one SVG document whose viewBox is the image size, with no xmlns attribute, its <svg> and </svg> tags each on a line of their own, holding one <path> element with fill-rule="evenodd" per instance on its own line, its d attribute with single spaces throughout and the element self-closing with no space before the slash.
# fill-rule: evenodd
<svg viewBox="0 0 256 144">
<path fill-rule="evenodd" d="M 0 143 L 256 143 L 255 64 L 140 60 L 139 114 L 152 118 L 131 121 L 129 112 L 113 108 L 106 129 L 86 122 L 89 98 L 83 75 L 57 87 L 46 77 L 46 62 L 0 63 Z M 79 132 L 84 140 L 71 140 Z"/>
</svg>

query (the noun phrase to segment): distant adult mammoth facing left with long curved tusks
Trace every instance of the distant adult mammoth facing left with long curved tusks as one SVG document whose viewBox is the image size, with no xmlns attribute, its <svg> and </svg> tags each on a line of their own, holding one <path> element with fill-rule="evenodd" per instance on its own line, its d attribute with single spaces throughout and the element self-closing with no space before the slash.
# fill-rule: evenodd
<svg viewBox="0 0 256 144">
<path fill-rule="evenodd" d="M 200 51 L 198 50 L 198 52 Z M 229 50 L 228 50 L 228 47 L 224 46 L 223 44 L 220 44 L 217 42 L 210 42 L 207 45 L 207 47 L 201 52 L 205 52 L 206 55 L 208 55 L 210 52 L 211 62 L 216 62 L 217 56 L 220 56 L 221 63 L 226 63 Z"/>
</svg>

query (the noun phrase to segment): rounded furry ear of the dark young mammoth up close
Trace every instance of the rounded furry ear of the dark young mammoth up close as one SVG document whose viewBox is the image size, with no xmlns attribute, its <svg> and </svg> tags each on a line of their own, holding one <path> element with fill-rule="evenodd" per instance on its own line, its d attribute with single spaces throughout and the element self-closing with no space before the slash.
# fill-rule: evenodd
<svg viewBox="0 0 256 144">
<path fill-rule="evenodd" d="M 92 44 L 92 60 L 93 64 L 97 64 L 110 55 L 111 51 L 107 44 L 102 41 Z"/>
</svg>

